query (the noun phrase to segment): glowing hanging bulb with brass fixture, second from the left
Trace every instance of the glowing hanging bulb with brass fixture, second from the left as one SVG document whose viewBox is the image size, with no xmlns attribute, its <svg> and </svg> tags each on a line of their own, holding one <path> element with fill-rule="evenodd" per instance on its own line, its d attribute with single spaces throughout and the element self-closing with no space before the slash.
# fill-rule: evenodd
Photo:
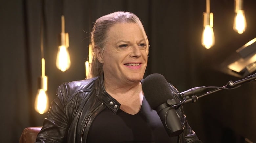
<svg viewBox="0 0 256 143">
<path fill-rule="evenodd" d="M 61 16 L 61 33 L 60 33 L 60 46 L 58 49 L 56 66 L 61 71 L 66 71 L 70 67 L 70 57 L 68 52 L 69 38 L 68 33 L 65 33 L 65 21 L 64 16 Z"/>
</svg>

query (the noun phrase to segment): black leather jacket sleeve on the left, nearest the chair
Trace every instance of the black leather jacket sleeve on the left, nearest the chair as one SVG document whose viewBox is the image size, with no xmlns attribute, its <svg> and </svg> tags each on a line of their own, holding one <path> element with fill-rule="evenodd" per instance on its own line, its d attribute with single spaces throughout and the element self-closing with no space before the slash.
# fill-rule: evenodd
<svg viewBox="0 0 256 143">
<path fill-rule="evenodd" d="M 56 99 L 51 103 L 47 118 L 44 119 L 43 127 L 36 138 L 36 143 L 62 143 L 65 142 L 68 120 L 65 116 L 63 86 L 57 88 Z"/>
</svg>

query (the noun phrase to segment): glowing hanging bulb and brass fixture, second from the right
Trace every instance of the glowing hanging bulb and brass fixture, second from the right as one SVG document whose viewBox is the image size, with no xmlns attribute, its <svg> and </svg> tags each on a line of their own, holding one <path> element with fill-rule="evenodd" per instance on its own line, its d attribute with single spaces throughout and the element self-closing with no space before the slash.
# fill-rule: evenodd
<svg viewBox="0 0 256 143">
<path fill-rule="evenodd" d="M 206 12 L 203 13 L 203 33 L 201 43 L 209 49 L 215 44 L 213 32 L 213 13 L 210 13 L 210 0 L 206 0 Z"/>
</svg>

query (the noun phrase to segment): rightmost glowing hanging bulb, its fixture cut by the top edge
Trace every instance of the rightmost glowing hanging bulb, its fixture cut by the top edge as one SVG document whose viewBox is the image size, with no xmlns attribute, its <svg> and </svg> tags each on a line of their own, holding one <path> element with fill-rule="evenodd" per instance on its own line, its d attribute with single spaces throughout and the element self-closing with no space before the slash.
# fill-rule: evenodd
<svg viewBox="0 0 256 143">
<path fill-rule="evenodd" d="M 242 10 L 243 0 L 235 0 L 235 19 L 233 29 L 237 33 L 242 34 L 247 28 L 247 23 L 245 19 L 245 12 Z"/>
</svg>

